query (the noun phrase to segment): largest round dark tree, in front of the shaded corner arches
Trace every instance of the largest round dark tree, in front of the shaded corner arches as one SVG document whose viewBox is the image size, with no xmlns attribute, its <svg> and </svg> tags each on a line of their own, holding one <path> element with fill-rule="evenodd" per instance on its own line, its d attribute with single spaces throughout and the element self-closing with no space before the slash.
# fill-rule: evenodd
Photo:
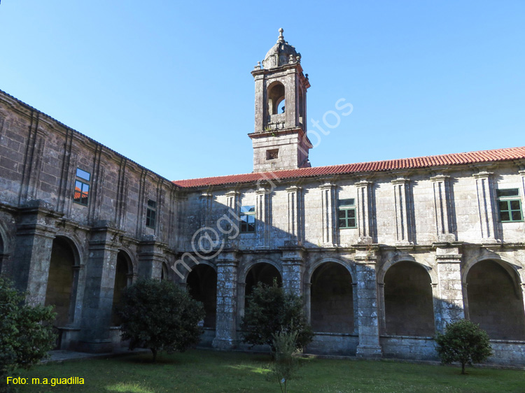
<svg viewBox="0 0 525 393">
<path fill-rule="evenodd" d="M 169 281 L 135 283 L 123 293 L 117 310 L 130 349 L 151 349 L 153 362 L 161 350 L 183 352 L 200 341 L 202 303 Z"/>
</svg>

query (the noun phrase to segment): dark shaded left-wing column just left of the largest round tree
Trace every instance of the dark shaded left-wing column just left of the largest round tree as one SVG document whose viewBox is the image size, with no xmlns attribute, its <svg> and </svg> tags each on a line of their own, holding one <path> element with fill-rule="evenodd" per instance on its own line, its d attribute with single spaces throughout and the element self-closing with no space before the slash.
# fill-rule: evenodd
<svg viewBox="0 0 525 393">
<path fill-rule="evenodd" d="M 101 222 L 92 229 L 89 259 L 86 264 L 84 306 L 81 322 L 81 352 L 111 352 L 111 311 L 118 254 L 122 232 Z"/>
</svg>

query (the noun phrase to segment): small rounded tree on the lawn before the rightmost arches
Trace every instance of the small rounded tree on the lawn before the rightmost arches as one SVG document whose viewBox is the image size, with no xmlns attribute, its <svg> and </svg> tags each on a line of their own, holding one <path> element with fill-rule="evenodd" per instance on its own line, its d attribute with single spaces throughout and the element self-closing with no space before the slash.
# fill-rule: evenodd
<svg viewBox="0 0 525 393">
<path fill-rule="evenodd" d="M 483 362 L 492 355 L 489 335 L 468 320 L 447 324 L 444 334 L 437 334 L 435 342 L 441 362 L 460 362 L 462 374 L 465 373 L 465 364 Z"/>
</svg>

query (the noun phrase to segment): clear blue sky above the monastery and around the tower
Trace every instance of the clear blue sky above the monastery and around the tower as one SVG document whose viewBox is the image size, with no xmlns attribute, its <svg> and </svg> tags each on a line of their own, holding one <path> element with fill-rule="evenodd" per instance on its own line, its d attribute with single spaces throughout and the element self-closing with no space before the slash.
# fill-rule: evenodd
<svg viewBox="0 0 525 393">
<path fill-rule="evenodd" d="M 250 71 L 279 27 L 313 166 L 525 145 L 524 1 L 2 0 L 0 89 L 166 178 L 252 171 Z M 311 129 L 311 125 L 309 125 Z"/>
</svg>

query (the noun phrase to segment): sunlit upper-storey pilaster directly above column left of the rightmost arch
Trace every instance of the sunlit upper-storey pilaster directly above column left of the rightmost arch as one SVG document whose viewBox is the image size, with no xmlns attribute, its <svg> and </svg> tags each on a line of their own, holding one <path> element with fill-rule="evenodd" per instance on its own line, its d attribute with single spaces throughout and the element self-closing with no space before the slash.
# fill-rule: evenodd
<svg viewBox="0 0 525 393">
<path fill-rule="evenodd" d="M 430 178 L 434 192 L 435 231 L 437 239 L 443 242 L 456 241 L 452 231 L 449 178 L 444 175 Z"/>
</svg>

